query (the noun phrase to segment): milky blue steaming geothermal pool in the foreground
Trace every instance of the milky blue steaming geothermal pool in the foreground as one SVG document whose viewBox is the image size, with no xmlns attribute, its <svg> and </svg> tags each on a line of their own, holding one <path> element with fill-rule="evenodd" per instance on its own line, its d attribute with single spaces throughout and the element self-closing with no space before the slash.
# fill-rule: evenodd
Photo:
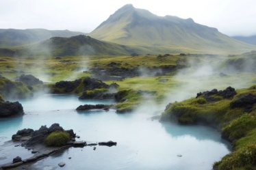
<svg viewBox="0 0 256 170">
<path fill-rule="evenodd" d="M 78 100 L 76 96 L 42 95 L 21 100 L 25 115 L 0 120 L 0 165 L 12 158 L 31 156 L 24 147 L 6 146 L 5 141 L 23 128 L 38 129 L 41 125 L 59 123 L 73 129 L 88 142 L 116 141 L 113 147 L 75 148 L 35 162 L 29 169 L 212 169 L 215 161 L 229 153 L 229 145 L 220 134 L 205 126 L 180 126 L 151 120 L 162 111 L 151 104 L 136 113 L 114 111 L 75 111 L 80 104 L 110 104 L 113 101 Z M 3 147 L 5 145 L 5 147 Z M 181 157 L 180 157 L 181 156 Z M 71 157 L 71 159 L 68 159 Z M 62 168 L 59 162 L 65 162 Z"/>
</svg>

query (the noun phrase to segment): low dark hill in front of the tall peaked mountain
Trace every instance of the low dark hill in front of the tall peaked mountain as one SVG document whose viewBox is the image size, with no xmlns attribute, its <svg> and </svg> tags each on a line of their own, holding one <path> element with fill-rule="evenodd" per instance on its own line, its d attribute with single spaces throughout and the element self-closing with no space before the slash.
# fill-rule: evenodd
<svg viewBox="0 0 256 170">
<path fill-rule="evenodd" d="M 90 36 L 73 36 L 71 38 L 53 37 L 49 40 L 18 46 L 0 48 L 0 56 L 73 56 L 73 55 L 131 55 L 142 53 L 140 49 L 129 46 L 103 42 Z"/>
</svg>

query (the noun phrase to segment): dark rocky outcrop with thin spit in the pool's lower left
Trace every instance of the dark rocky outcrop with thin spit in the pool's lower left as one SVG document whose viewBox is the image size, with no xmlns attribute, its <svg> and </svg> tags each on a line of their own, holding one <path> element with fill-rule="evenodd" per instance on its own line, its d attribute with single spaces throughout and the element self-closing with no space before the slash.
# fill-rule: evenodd
<svg viewBox="0 0 256 170">
<path fill-rule="evenodd" d="M 57 143 L 60 143 L 60 141 L 56 140 L 58 139 L 58 136 L 55 135 L 55 143 L 47 145 L 47 140 L 49 140 L 49 137 L 52 134 L 61 134 L 62 132 L 66 132 L 67 134 L 70 135 L 70 139 L 68 139 L 68 141 L 66 141 L 62 145 L 57 145 Z M 64 128 L 62 128 L 62 126 L 60 126 L 59 124 L 52 124 L 49 128 L 47 128 L 47 126 L 41 126 L 39 130 L 32 130 L 30 128 L 18 130 L 16 134 L 12 135 L 12 142 L 14 142 L 15 144 L 14 147 L 25 147 L 27 150 L 31 150 L 31 153 L 34 155 L 25 159 L 16 156 L 16 158 L 14 158 L 12 162 L 0 165 L 0 169 L 12 169 L 14 167 L 25 165 L 27 163 L 36 162 L 43 158 L 47 158 L 51 154 L 55 154 L 62 150 L 67 150 L 70 147 L 94 146 L 95 150 L 96 145 L 105 145 L 108 147 L 117 145 L 117 143 L 114 141 L 87 143 L 86 141 L 76 141 L 76 138 L 80 137 L 76 136 L 72 129 L 64 130 Z M 62 163 L 61 165 L 64 166 L 65 164 Z M 63 167 L 61 165 L 59 166 Z"/>
</svg>

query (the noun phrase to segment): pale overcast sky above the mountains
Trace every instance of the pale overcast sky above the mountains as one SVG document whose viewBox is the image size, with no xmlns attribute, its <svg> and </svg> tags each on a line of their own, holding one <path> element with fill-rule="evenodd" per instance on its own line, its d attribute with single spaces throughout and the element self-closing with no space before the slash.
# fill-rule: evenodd
<svg viewBox="0 0 256 170">
<path fill-rule="evenodd" d="M 256 34 L 255 0 L 0 0 L 0 28 L 88 33 L 127 3 L 159 16 L 193 18 L 229 36 Z"/>
</svg>

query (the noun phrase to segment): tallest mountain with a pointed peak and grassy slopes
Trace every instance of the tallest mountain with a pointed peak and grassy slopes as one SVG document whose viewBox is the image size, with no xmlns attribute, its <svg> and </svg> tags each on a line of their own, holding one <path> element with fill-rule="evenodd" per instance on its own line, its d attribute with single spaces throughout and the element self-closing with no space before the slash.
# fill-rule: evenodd
<svg viewBox="0 0 256 170">
<path fill-rule="evenodd" d="M 240 53 L 256 49 L 256 46 L 234 40 L 218 29 L 195 23 L 191 18 L 156 16 L 133 5 L 117 10 L 89 36 L 170 52 Z"/>
</svg>

